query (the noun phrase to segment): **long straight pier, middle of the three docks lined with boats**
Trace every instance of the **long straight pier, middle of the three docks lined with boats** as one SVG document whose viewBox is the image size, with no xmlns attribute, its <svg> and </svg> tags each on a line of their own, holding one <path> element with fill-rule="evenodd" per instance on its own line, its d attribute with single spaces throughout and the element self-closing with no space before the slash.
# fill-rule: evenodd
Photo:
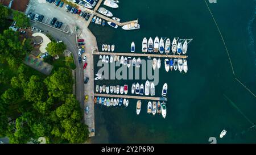
<svg viewBox="0 0 256 155">
<path fill-rule="evenodd" d="M 136 56 L 136 57 L 165 57 L 165 58 L 187 58 L 184 55 L 157 55 L 150 53 L 114 53 L 114 52 L 93 52 L 93 55 L 114 55 L 114 56 Z"/>
</svg>

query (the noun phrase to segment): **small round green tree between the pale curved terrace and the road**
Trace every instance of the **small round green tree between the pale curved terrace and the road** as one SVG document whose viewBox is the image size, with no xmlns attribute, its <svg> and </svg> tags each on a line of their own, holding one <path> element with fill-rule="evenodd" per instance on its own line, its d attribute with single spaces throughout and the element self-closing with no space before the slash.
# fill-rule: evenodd
<svg viewBox="0 0 256 155">
<path fill-rule="evenodd" d="M 51 41 L 46 47 L 46 50 L 51 56 L 60 55 L 65 49 L 66 45 L 64 43 L 57 43 L 56 41 Z"/>
</svg>

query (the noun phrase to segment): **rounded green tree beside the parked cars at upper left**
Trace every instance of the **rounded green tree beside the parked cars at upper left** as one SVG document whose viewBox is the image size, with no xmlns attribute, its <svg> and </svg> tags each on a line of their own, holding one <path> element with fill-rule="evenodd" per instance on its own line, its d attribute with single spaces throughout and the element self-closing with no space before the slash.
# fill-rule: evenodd
<svg viewBox="0 0 256 155">
<path fill-rule="evenodd" d="M 30 20 L 22 12 L 13 11 L 13 20 L 16 22 L 17 27 L 24 28 L 30 26 Z"/>
</svg>

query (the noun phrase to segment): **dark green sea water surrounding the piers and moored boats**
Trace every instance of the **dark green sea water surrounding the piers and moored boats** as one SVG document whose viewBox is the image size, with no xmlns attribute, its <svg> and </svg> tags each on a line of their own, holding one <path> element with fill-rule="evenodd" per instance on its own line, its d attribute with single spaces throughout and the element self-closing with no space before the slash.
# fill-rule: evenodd
<svg viewBox="0 0 256 155">
<path fill-rule="evenodd" d="M 137 100 L 129 107 L 95 106 L 95 132 L 92 143 L 256 143 L 256 99 L 234 79 L 228 55 L 212 16 L 203 0 L 127 1 L 110 10 L 121 22 L 139 19 L 141 29 L 123 31 L 90 24 L 97 44 L 115 44 L 115 51 L 130 51 L 130 44 L 141 53 L 143 37 L 193 38 L 188 46 L 188 73 L 166 72 L 163 60 L 156 96 L 168 83 L 167 117 L 147 114 L 143 100 L 141 114 Z M 208 1 L 207 1 L 208 2 Z M 235 77 L 256 93 L 255 1 L 225 0 L 208 5 L 226 41 Z M 97 62 L 98 56 L 94 57 Z M 97 72 L 97 63 L 94 70 Z M 123 85 L 146 80 L 102 80 L 94 85 Z M 227 134 L 219 138 L 220 132 Z"/>
</svg>

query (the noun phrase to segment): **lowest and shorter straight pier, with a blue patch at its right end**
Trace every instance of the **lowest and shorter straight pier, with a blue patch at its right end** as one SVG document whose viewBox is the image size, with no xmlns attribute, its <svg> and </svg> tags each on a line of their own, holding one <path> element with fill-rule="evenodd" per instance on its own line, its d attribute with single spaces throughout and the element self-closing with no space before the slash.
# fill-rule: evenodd
<svg viewBox="0 0 256 155">
<path fill-rule="evenodd" d="M 164 98 L 164 97 L 143 97 L 143 96 L 113 95 L 113 94 L 94 94 L 94 97 L 106 97 L 106 98 L 130 98 L 130 99 L 146 99 L 146 100 L 160 100 L 160 101 L 167 101 L 167 98 Z"/>
</svg>

